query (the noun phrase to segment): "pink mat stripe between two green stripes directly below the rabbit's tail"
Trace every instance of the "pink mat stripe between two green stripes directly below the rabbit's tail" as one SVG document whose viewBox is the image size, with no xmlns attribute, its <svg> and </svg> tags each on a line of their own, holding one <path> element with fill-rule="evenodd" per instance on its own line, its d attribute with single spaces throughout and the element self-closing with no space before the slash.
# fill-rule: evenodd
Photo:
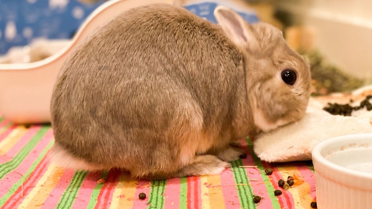
<svg viewBox="0 0 372 209">
<path fill-rule="evenodd" d="M 89 172 L 87 177 L 81 184 L 80 190 L 77 193 L 75 202 L 72 206 L 73 209 L 87 208 L 94 187 L 97 185 L 97 180 L 101 178 L 101 172 Z"/>
</svg>

